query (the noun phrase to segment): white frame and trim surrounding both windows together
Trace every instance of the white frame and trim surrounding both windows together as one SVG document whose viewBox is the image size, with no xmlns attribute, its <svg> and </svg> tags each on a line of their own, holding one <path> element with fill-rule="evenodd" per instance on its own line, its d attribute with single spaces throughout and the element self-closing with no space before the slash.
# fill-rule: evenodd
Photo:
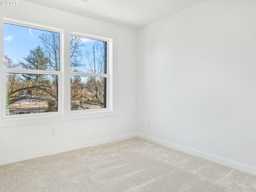
<svg viewBox="0 0 256 192">
<path fill-rule="evenodd" d="M 20 72 L 24 73 L 24 70 L 20 69 L 12 69 L 7 70 L 3 68 L 3 49 L 0 49 L 0 127 L 8 127 L 8 126 L 21 126 L 26 124 L 39 124 L 39 123 L 47 123 L 47 122 L 58 122 L 58 121 L 66 121 L 66 120 L 79 120 L 86 118 L 99 118 L 104 116 L 114 116 L 116 115 L 116 55 L 114 54 L 116 50 L 116 35 L 109 34 L 105 32 L 95 31 L 84 28 L 84 30 L 80 32 L 76 29 L 70 28 L 61 28 L 62 26 L 55 27 L 54 22 L 51 26 L 48 25 L 49 22 L 44 22 L 44 20 L 40 20 L 42 23 L 38 24 L 32 22 L 32 19 L 29 17 L 24 17 L 25 21 L 19 20 L 20 18 L 0 18 L 0 22 L 2 24 L 2 36 L 0 37 L 0 46 L 3 48 L 3 25 L 4 23 L 16 24 L 20 26 L 28 26 L 32 28 L 38 28 L 53 32 L 60 33 L 60 71 L 58 73 L 59 76 L 59 88 L 58 88 L 58 112 L 44 112 L 44 113 L 36 113 L 36 114 L 18 114 L 18 115 L 9 115 L 6 116 L 6 73 L 8 72 Z M 72 76 L 72 72 L 70 72 L 70 35 L 87 37 L 92 39 L 103 40 L 108 42 L 108 50 L 107 50 L 107 98 L 106 104 L 107 108 L 102 109 L 94 109 L 94 110 L 79 110 L 79 111 L 71 111 L 70 109 L 70 76 Z M 65 43 L 65 44 L 64 44 Z M 30 71 L 29 73 L 32 73 Z M 42 71 L 35 70 L 34 74 L 42 74 Z M 33 74 L 32 73 L 32 74 Z M 52 71 L 47 71 L 47 74 L 52 74 Z M 44 74 L 44 73 L 43 73 Z M 77 74 L 76 74 L 77 75 Z M 105 74 L 104 74 L 105 75 Z M 79 75 L 78 75 L 79 76 Z M 84 76 L 82 74 L 81 76 Z M 86 74 L 88 76 L 88 74 Z M 97 76 L 96 74 L 91 74 L 91 76 Z M 2 81 L 2 82 L 1 82 Z"/>
</svg>

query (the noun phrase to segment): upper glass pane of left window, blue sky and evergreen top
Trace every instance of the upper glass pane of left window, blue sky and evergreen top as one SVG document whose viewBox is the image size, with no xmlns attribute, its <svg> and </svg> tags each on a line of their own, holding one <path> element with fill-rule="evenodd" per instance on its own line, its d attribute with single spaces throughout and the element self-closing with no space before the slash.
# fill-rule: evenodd
<svg viewBox="0 0 256 192">
<path fill-rule="evenodd" d="M 4 68 L 60 70 L 60 34 L 4 23 Z"/>
</svg>

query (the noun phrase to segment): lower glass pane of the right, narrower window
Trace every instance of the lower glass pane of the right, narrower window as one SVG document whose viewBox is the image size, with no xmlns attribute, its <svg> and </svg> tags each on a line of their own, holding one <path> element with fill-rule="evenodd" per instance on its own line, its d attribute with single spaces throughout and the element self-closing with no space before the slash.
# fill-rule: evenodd
<svg viewBox="0 0 256 192">
<path fill-rule="evenodd" d="M 106 108 L 106 78 L 71 76 L 71 110 Z"/>
</svg>

